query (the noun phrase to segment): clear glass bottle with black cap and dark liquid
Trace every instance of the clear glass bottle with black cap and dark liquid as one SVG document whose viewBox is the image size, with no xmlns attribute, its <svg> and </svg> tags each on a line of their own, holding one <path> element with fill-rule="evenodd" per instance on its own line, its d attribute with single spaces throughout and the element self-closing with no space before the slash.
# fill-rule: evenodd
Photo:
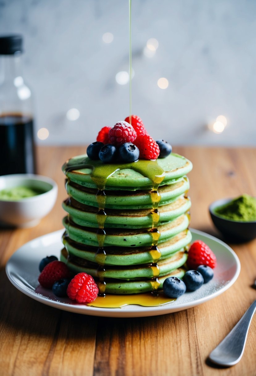
<svg viewBox="0 0 256 376">
<path fill-rule="evenodd" d="M 22 36 L 0 36 L 0 175 L 36 173 L 32 93 L 21 59 Z"/>
</svg>

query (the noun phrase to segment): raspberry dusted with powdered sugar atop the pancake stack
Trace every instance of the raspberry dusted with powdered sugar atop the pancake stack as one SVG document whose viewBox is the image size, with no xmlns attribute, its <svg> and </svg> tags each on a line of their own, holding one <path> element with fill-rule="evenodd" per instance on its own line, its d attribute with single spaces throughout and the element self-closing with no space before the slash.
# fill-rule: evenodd
<svg viewBox="0 0 256 376">
<path fill-rule="evenodd" d="M 126 142 L 133 142 L 137 133 L 131 124 L 126 123 L 126 121 L 119 121 L 110 129 L 108 136 L 112 145 L 120 146 Z"/>
</svg>

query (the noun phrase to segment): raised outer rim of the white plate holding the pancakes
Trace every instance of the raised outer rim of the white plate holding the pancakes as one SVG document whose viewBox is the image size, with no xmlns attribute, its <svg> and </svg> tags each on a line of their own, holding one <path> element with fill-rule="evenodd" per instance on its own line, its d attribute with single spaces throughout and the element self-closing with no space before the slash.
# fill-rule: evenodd
<svg viewBox="0 0 256 376">
<path fill-rule="evenodd" d="M 241 270 L 241 264 L 240 264 L 239 258 L 236 255 L 236 253 L 233 251 L 233 249 L 228 244 L 224 243 L 224 241 L 222 241 L 222 240 L 220 240 L 220 239 L 218 239 L 218 238 L 216 238 L 216 237 L 214 237 L 214 236 L 212 236 L 212 235 L 210 235 L 206 232 L 190 228 L 190 231 L 191 231 L 192 234 L 196 234 L 196 235 L 199 235 L 199 236 L 201 235 L 201 236 L 209 238 L 209 239 L 211 239 L 211 240 L 213 240 L 217 243 L 220 243 L 222 246 L 224 246 L 229 251 L 229 253 L 231 253 L 231 255 L 234 258 L 235 265 L 236 265 L 235 274 L 227 282 L 226 285 L 224 285 L 223 287 L 221 287 L 217 291 L 214 291 L 213 293 L 209 294 L 208 296 L 203 296 L 203 297 L 200 297 L 196 300 L 192 300 L 190 302 L 180 303 L 180 304 L 175 305 L 173 307 L 170 307 L 170 305 L 161 305 L 161 306 L 152 306 L 152 307 L 131 305 L 131 308 L 128 308 L 126 306 L 126 309 L 123 310 L 123 311 L 122 311 L 122 307 L 121 308 L 99 308 L 99 307 L 93 307 L 93 306 L 87 306 L 87 305 L 81 305 L 81 304 L 69 304 L 69 303 L 65 303 L 65 302 L 59 302 L 59 301 L 56 301 L 56 300 L 48 299 L 47 297 L 45 297 L 45 296 L 43 296 L 39 293 L 36 293 L 32 289 L 29 289 L 29 288 L 26 289 L 26 288 L 21 287 L 15 281 L 15 279 L 12 278 L 11 272 L 9 271 L 9 267 L 10 267 L 10 264 L 12 262 L 12 259 L 15 258 L 15 255 L 17 256 L 17 252 L 22 252 L 23 247 L 28 246 L 30 243 L 32 243 L 35 240 L 40 241 L 44 237 L 49 237 L 49 236 L 57 237 L 57 236 L 59 236 L 60 239 L 61 239 L 61 234 L 63 233 L 63 231 L 64 231 L 64 229 L 57 230 L 57 231 L 54 231 L 54 232 L 50 232 L 50 233 L 47 233 L 45 235 L 41 235 L 40 237 L 34 238 L 34 239 L 28 241 L 27 243 L 23 244 L 21 247 L 19 247 L 12 254 L 12 256 L 9 258 L 8 262 L 6 263 L 6 267 L 5 267 L 6 274 L 7 274 L 9 281 L 19 291 L 21 291 L 23 294 L 31 297 L 32 299 L 34 299 L 34 300 L 36 300 L 40 303 L 51 306 L 53 308 L 62 309 L 63 311 L 69 311 L 69 312 L 73 312 L 73 313 L 99 316 L 99 317 L 149 317 L 149 316 L 158 316 L 158 315 L 164 315 L 164 314 L 179 312 L 179 311 L 183 311 L 184 309 L 192 308 L 192 307 L 195 307 L 195 306 L 200 305 L 202 303 L 205 303 L 208 300 L 214 299 L 215 297 L 224 293 L 226 290 L 228 290 L 235 283 L 235 281 L 237 280 L 237 278 L 239 276 L 240 270 Z M 137 307 L 137 309 L 134 308 L 134 307 Z"/>
</svg>

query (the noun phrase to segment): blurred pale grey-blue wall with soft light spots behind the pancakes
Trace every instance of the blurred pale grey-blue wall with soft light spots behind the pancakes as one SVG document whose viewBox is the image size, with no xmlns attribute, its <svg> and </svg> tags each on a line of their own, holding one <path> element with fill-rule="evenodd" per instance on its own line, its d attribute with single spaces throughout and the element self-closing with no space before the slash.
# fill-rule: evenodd
<svg viewBox="0 0 256 376">
<path fill-rule="evenodd" d="M 38 143 L 88 144 L 129 115 L 128 0 L 0 0 L 0 33 L 13 32 Z M 256 144 L 254 0 L 133 0 L 132 51 L 132 113 L 155 139 Z"/>
</svg>

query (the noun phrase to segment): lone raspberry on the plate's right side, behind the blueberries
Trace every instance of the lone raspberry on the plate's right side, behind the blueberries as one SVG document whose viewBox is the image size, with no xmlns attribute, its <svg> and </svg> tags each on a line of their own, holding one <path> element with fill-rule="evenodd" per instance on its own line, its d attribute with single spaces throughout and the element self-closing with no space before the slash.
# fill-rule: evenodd
<svg viewBox="0 0 256 376">
<path fill-rule="evenodd" d="M 187 264 L 191 269 L 196 269 L 199 265 L 207 265 L 213 269 L 217 266 L 217 261 L 207 244 L 202 240 L 196 240 L 188 251 Z"/>
</svg>

